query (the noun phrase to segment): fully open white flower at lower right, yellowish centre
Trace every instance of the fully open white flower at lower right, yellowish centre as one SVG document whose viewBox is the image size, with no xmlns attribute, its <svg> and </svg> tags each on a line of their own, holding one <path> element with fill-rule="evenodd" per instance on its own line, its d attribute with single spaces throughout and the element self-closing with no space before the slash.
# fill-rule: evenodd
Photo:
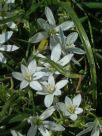
<svg viewBox="0 0 102 136">
<path fill-rule="evenodd" d="M 69 97 L 65 97 L 65 103 L 59 102 L 58 107 L 65 116 L 68 116 L 71 120 L 77 119 L 77 114 L 83 112 L 83 109 L 79 107 L 81 103 L 81 95 L 76 95 L 72 100 Z"/>
</svg>

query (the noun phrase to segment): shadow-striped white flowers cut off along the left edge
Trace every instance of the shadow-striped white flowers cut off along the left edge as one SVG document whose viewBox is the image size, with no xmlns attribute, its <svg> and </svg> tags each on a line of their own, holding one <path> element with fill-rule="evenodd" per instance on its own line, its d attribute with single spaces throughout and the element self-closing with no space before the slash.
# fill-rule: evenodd
<svg viewBox="0 0 102 136">
<path fill-rule="evenodd" d="M 4 0 L 4 5 L 9 5 L 9 4 L 13 4 L 15 2 L 15 0 Z M 0 3 L 1 4 L 1 3 Z M 7 10 L 7 6 L 0 6 L 0 11 L 5 11 L 5 8 Z M 9 7 L 9 6 L 8 6 Z M 2 9 L 4 8 L 4 9 Z M 10 17 L 10 13 L 8 14 L 8 12 L 5 12 L 2 16 L 2 14 L 0 14 L 0 21 L 3 21 L 4 19 L 8 19 Z M 4 21 L 5 22 L 5 21 Z M 10 30 L 8 31 L 4 31 L 0 34 L 0 63 L 6 63 L 6 57 L 3 55 L 3 52 L 12 52 L 15 51 L 17 49 L 19 49 L 19 47 L 17 47 L 15 44 L 9 44 L 9 40 L 11 39 L 12 35 L 13 35 L 13 31 L 18 31 L 17 25 L 12 22 L 12 21 L 8 21 L 6 23 L 0 23 L 0 27 L 4 27 L 7 26 Z"/>
</svg>

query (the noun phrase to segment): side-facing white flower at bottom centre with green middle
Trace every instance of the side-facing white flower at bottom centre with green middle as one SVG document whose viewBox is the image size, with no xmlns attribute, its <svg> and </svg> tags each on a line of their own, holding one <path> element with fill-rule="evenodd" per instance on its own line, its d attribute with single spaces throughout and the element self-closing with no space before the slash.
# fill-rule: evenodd
<svg viewBox="0 0 102 136">
<path fill-rule="evenodd" d="M 28 119 L 28 123 L 31 124 L 31 127 L 28 130 L 27 136 L 35 136 L 37 129 L 40 131 L 42 136 L 51 136 L 48 130 L 64 131 L 65 129 L 63 126 L 56 124 L 53 121 L 45 120 L 50 117 L 54 111 L 55 108 L 51 106 L 47 110 L 45 110 L 40 116 L 30 117 Z"/>
</svg>

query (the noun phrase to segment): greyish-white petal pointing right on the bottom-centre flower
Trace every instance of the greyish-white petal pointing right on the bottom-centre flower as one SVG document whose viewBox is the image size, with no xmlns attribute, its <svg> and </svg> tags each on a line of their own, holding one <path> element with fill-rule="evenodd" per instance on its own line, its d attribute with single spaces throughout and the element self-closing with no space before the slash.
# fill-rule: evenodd
<svg viewBox="0 0 102 136">
<path fill-rule="evenodd" d="M 53 121 L 44 121 L 44 126 L 52 131 L 64 131 L 65 128 L 59 124 L 56 124 Z"/>
</svg>

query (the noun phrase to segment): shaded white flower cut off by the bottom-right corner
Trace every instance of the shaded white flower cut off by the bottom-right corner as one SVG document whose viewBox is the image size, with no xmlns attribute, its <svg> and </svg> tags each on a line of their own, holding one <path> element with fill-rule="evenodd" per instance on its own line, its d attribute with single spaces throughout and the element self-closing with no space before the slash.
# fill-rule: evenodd
<svg viewBox="0 0 102 136">
<path fill-rule="evenodd" d="M 87 128 L 82 130 L 79 134 L 76 136 L 82 136 L 90 131 L 91 135 L 90 136 L 100 136 L 100 133 L 102 133 L 102 123 L 101 120 L 95 119 L 94 122 L 88 122 L 85 125 Z"/>
</svg>

